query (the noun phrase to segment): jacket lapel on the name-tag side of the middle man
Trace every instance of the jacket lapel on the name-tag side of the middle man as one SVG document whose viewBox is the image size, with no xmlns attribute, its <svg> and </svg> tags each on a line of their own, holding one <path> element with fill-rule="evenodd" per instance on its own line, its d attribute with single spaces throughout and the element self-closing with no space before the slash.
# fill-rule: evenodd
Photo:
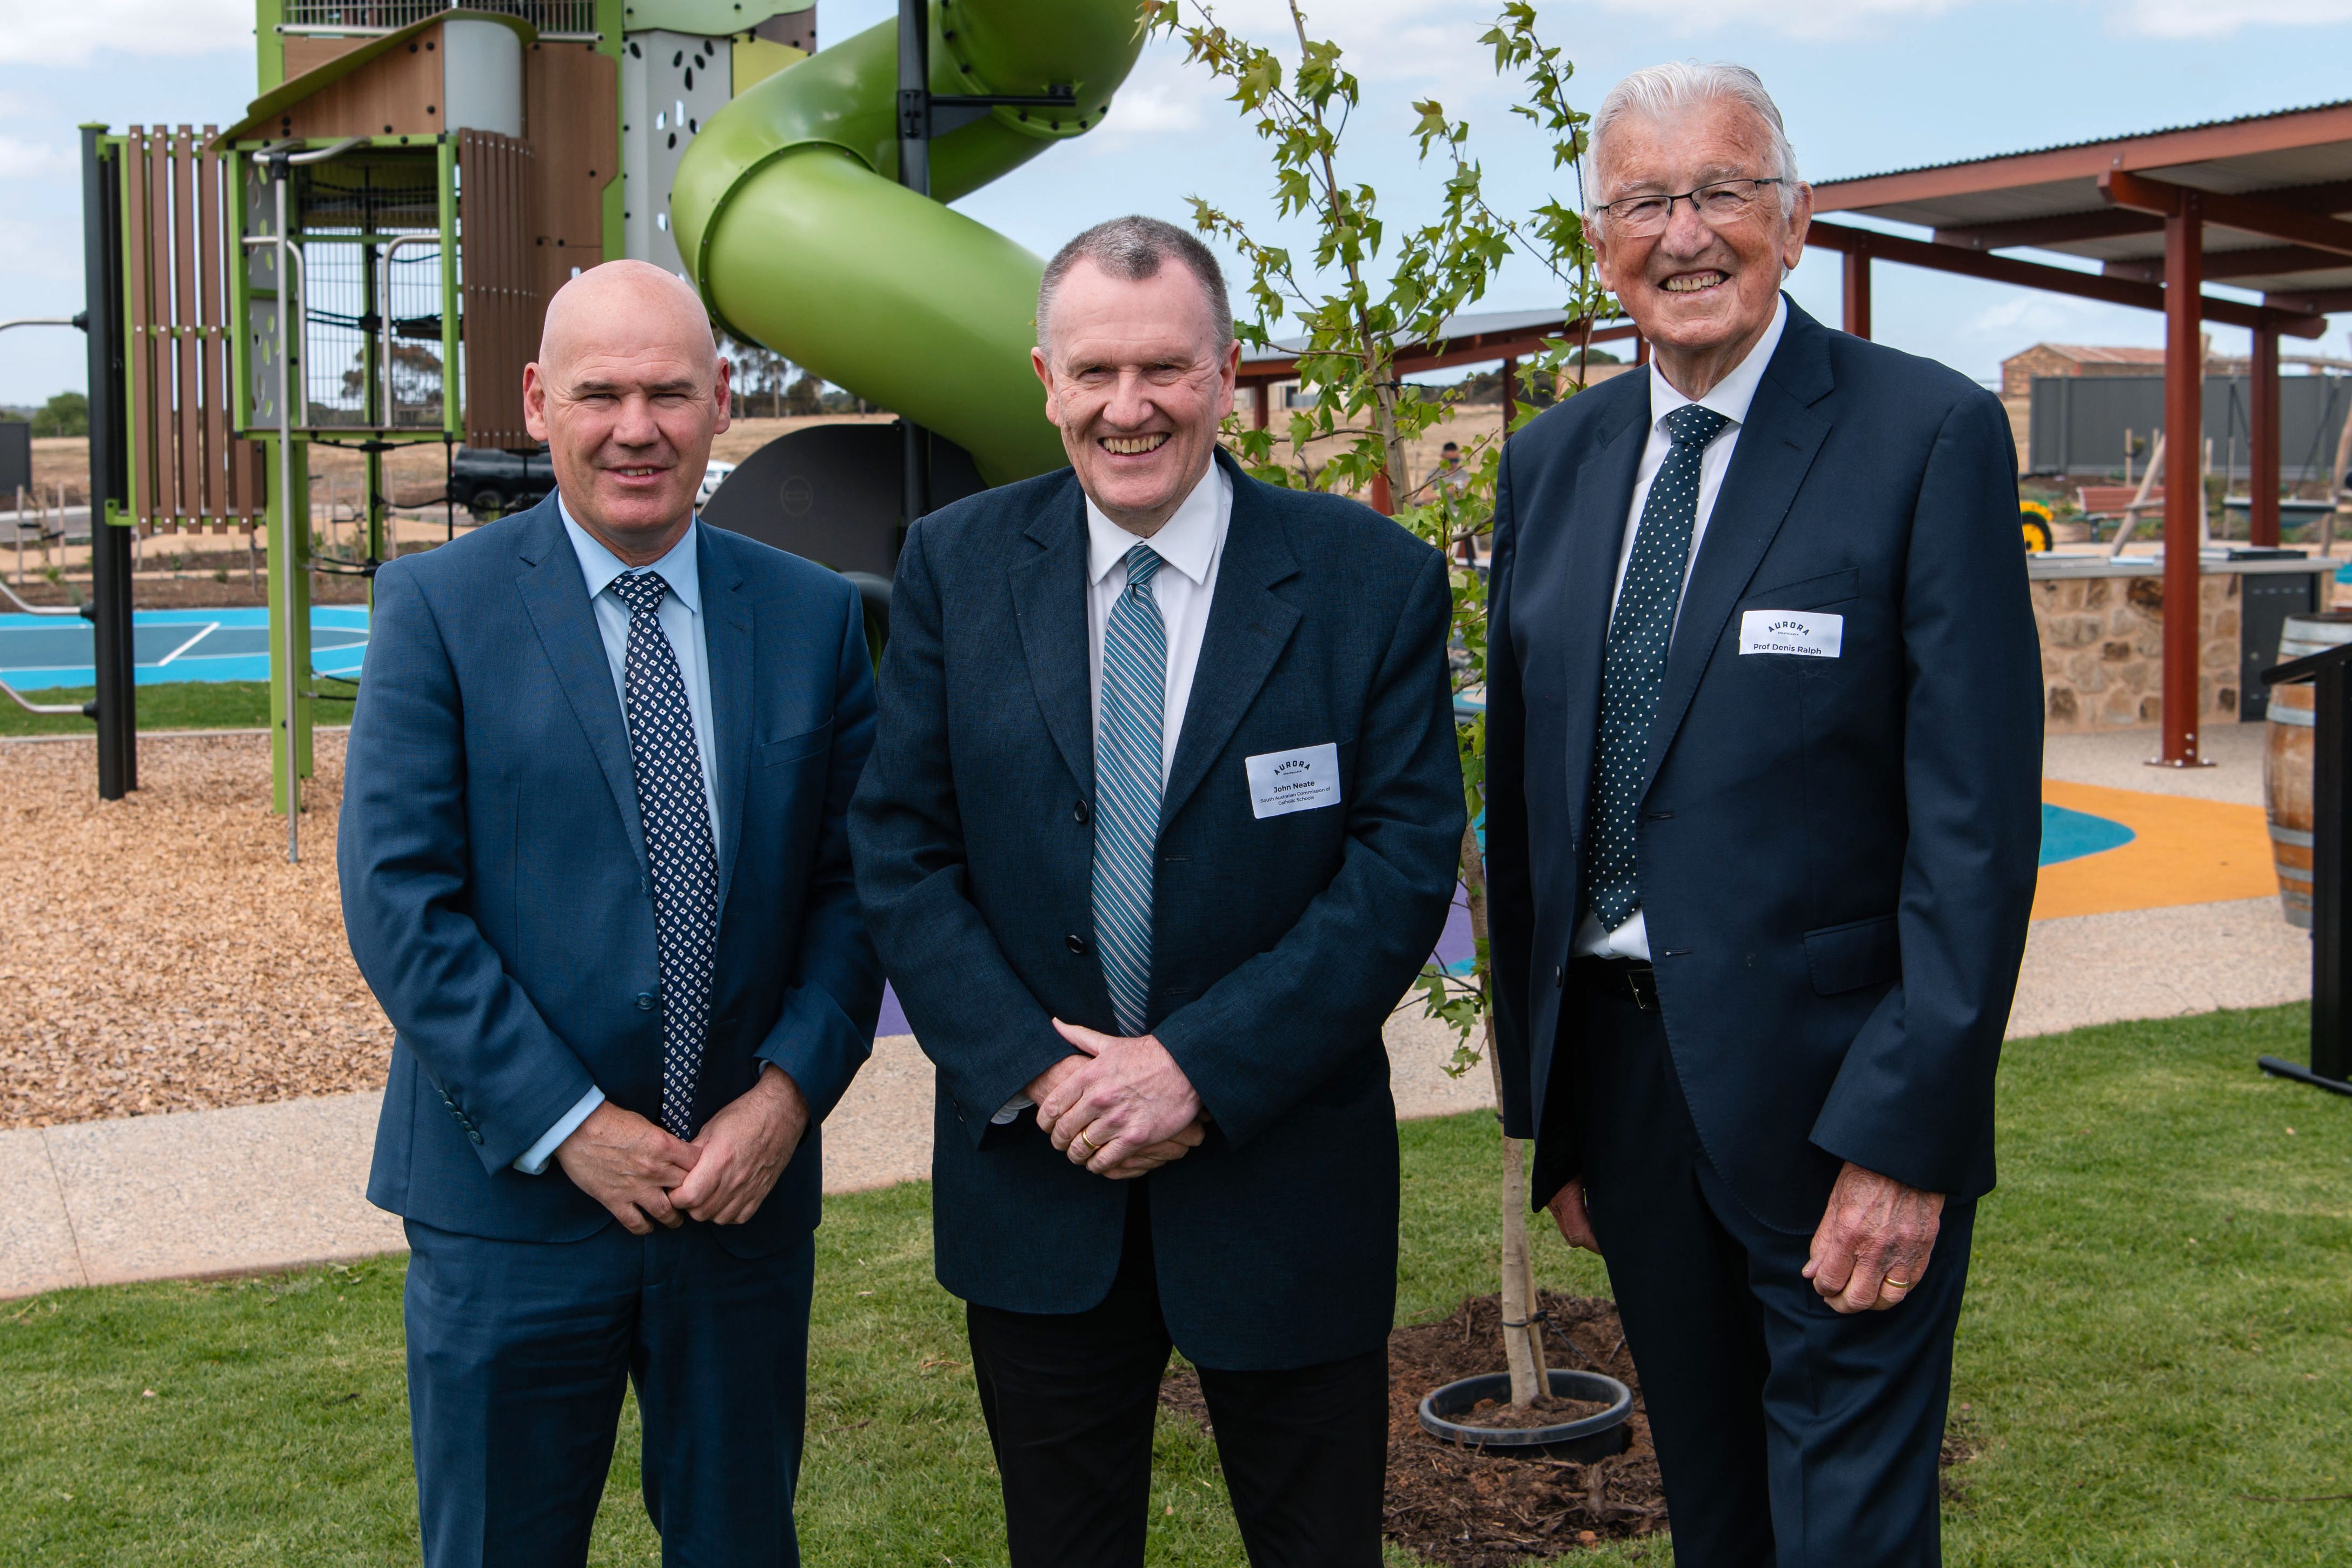
<svg viewBox="0 0 2352 1568">
<path fill-rule="evenodd" d="M 1218 463 L 1230 458 L 1218 451 Z M 1223 755 L 1242 715 L 1258 701 L 1258 686 L 1272 675 L 1275 661 L 1298 630 L 1298 609 L 1270 590 L 1298 571 L 1298 559 L 1282 534 L 1282 517 L 1268 503 L 1268 487 L 1240 468 L 1232 477 L 1232 520 L 1225 527 L 1223 559 L 1216 564 L 1216 592 L 1209 597 L 1209 628 L 1192 670 L 1192 698 L 1185 703 L 1183 731 L 1176 738 L 1176 762 L 1169 766 L 1160 797 L 1160 823 L 1174 823 L 1192 790 Z"/>
</svg>

